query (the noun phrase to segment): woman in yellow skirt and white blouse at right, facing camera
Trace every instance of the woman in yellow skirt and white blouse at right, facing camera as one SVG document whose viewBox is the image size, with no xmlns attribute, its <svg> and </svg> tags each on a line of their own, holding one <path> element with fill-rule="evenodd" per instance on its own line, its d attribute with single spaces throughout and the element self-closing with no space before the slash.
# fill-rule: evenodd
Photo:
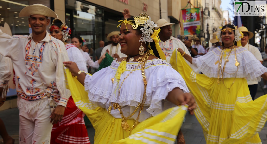
<svg viewBox="0 0 267 144">
<path fill-rule="evenodd" d="M 267 95 L 253 101 L 246 78 L 267 79 L 267 68 L 241 46 L 242 33 L 233 24 L 220 28 L 221 48 L 198 58 L 179 49 L 171 64 L 177 64 L 175 69 L 196 99 L 195 116 L 207 144 L 261 143 L 258 132 L 266 122 Z M 193 70 L 182 57 L 193 64 Z"/>
</svg>

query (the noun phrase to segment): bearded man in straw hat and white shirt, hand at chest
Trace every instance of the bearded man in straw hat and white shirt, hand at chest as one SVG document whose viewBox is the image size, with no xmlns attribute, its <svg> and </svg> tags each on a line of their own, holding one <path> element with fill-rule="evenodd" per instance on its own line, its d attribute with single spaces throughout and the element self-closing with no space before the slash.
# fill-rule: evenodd
<svg viewBox="0 0 267 144">
<path fill-rule="evenodd" d="M 109 52 L 109 55 L 111 55 L 114 60 L 120 57 L 126 57 L 126 55 L 120 52 L 119 33 L 119 31 L 112 31 L 108 34 L 107 40 L 111 41 L 111 44 L 103 48 L 103 50 L 101 51 L 101 56 L 106 52 Z"/>
</svg>

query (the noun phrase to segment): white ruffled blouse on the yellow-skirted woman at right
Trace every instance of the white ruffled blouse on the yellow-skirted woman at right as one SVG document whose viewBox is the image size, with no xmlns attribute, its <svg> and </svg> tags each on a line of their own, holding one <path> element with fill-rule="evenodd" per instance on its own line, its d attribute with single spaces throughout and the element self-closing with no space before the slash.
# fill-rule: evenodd
<svg viewBox="0 0 267 144">
<path fill-rule="evenodd" d="M 208 77 L 218 77 L 218 63 L 215 64 L 216 61 L 219 60 L 221 54 L 220 48 L 215 48 L 213 51 L 208 52 L 204 56 L 200 56 L 198 58 L 193 58 L 193 70 L 195 72 L 201 71 Z M 225 59 L 229 54 L 228 50 L 223 50 L 223 59 L 222 59 L 222 69 L 225 63 Z M 265 68 L 256 57 L 248 51 L 245 47 L 236 48 L 237 61 L 240 63 L 237 78 L 245 78 L 249 80 L 256 79 L 260 81 L 261 75 L 267 72 L 267 68 Z M 223 78 L 235 77 L 237 67 L 235 66 L 235 55 L 234 50 L 232 50 L 229 61 L 225 65 L 225 72 L 223 73 Z"/>
</svg>

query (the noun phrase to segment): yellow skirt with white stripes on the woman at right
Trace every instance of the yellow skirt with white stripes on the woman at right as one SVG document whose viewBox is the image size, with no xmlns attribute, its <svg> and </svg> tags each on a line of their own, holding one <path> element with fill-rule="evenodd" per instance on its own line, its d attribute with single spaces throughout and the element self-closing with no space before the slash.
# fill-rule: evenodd
<svg viewBox="0 0 267 144">
<path fill-rule="evenodd" d="M 197 74 L 176 51 L 171 65 L 195 97 L 195 116 L 207 144 L 261 143 L 258 132 L 266 122 L 267 95 L 253 101 L 244 78 L 226 78 L 218 84 L 217 78 Z"/>
</svg>

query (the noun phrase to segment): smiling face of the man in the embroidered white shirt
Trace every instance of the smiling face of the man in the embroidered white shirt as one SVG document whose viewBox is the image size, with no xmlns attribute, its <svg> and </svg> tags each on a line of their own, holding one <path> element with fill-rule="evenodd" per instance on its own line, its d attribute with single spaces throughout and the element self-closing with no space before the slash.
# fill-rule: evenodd
<svg viewBox="0 0 267 144">
<path fill-rule="evenodd" d="M 42 34 L 46 32 L 50 20 L 44 15 L 31 15 L 29 17 L 29 24 L 34 34 Z"/>
</svg>

